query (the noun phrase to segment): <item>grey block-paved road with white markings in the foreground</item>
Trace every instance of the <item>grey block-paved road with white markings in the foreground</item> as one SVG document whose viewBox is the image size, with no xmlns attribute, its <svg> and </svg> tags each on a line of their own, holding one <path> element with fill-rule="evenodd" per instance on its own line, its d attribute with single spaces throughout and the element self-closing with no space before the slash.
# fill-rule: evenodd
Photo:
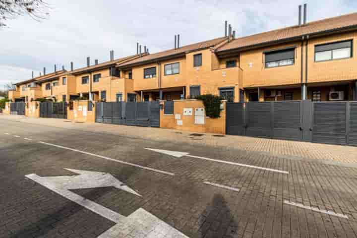
<svg viewBox="0 0 357 238">
<path fill-rule="evenodd" d="M 0 238 L 357 237 L 353 167 L 170 138 L 0 124 Z M 118 233 L 122 221 L 130 224 Z"/>
</svg>

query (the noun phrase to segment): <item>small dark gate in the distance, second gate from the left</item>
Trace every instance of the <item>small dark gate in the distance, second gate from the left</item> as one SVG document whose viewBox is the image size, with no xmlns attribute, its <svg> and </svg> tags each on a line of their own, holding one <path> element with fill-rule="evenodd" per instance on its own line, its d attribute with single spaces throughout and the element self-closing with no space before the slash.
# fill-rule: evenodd
<svg viewBox="0 0 357 238">
<path fill-rule="evenodd" d="M 67 103 L 40 103 L 40 117 L 67 119 Z"/>
</svg>

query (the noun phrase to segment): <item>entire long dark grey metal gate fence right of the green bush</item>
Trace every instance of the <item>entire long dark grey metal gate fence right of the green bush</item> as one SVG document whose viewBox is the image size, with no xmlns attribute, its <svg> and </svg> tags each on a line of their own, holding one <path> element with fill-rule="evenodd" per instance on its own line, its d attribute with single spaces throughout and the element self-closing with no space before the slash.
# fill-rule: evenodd
<svg viewBox="0 0 357 238">
<path fill-rule="evenodd" d="M 228 103 L 231 135 L 357 145 L 357 102 Z"/>
</svg>

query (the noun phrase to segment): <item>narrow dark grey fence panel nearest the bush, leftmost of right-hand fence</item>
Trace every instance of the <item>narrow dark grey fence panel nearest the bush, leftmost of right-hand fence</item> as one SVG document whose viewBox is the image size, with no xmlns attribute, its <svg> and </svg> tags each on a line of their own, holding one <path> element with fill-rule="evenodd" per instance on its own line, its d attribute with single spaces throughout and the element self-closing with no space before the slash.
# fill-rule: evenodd
<svg viewBox="0 0 357 238">
<path fill-rule="evenodd" d="M 229 135 L 244 134 L 244 104 L 226 104 L 226 133 Z"/>
</svg>

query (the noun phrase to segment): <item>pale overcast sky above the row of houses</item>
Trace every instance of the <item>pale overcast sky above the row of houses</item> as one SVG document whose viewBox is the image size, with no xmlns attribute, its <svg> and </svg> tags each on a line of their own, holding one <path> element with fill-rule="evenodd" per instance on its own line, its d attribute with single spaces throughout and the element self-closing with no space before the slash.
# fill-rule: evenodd
<svg viewBox="0 0 357 238">
<path fill-rule="evenodd" d="M 298 5 L 307 3 L 307 20 L 357 11 L 352 0 L 49 0 L 51 15 L 41 22 L 28 16 L 0 29 L 0 89 L 30 79 L 46 67 L 53 72 L 136 53 L 136 42 L 150 53 L 224 35 L 224 21 L 246 36 L 297 24 Z"/>
</svg>

